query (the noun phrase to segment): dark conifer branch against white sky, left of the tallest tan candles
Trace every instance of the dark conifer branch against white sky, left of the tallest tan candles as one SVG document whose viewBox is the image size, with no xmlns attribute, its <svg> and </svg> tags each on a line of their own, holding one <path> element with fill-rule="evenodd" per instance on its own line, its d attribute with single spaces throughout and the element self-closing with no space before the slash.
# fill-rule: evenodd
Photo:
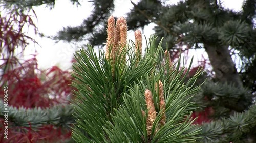
<svg viewBox="0 0 256 143">
<path fill-rule="evenodd" d="M 63 40 L 67 42 L 88 40 L 88 44 L 92 46 L 102 45 L 103 39 L 106 39 L 106 23 L 102 21 L 106 21 L 114 10 L 114 1 L 97 0 L 90 2 L 93 2 L 94 10 L 87 19 L 83 20 L 81 25 L 65 27 L 59 31 L 56 36 L 50 36 L 50 38 L 57 41 Z M 84 39 L 86 36 L 88 38 Z"/>
</svg>

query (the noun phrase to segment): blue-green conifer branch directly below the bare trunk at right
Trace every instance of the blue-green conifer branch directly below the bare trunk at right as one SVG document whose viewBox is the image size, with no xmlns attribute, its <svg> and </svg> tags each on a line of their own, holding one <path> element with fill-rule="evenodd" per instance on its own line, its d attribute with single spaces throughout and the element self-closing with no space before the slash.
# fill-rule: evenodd
<svg viewBox="0 0 256 143">
<path fill-rule="evenodd" d="M 247 110 L 252 105 L 253 98 L 247 88 L 206 81 L 201 87 L 201 92 L 191 100 L 202 105 L 202 108 L 213 107 L 216 115 L 212 118 L 220 118 L 229 115 L 232 110 L 237 112 Z"/>
</svg>

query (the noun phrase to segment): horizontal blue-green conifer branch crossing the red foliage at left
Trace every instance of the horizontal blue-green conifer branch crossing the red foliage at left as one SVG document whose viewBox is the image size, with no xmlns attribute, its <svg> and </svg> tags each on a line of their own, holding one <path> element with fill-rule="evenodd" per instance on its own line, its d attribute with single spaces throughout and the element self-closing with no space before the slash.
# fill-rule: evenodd
<svg viewBox="0 0 256 143">
<path fill-rule="evenodd" d="M 6 110 L 2 100 L 0 109 L 0 117 L 4 118 L 4 111 Z M 72 124 L 75 123 L 73 106 L 67 104 L 56 105 L 46 109 L 25 109 L 23 107 L 9 106 L 8 111 L 8 122 L 11 123 L 12 127 L 31 127 L 36 130 L 44 125 L 54 125 L 70 129 Z"/>
</svg>

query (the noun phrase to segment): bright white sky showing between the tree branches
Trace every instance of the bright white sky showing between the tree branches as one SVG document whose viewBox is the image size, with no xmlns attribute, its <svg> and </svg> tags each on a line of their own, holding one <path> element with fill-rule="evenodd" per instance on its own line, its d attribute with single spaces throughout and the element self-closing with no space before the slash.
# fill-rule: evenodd
<svg viewBox="0 0 256 143">
<path fill-rule="evenodd" d="M 172 0 L 170 2 L 175 4 L 178 1 L 179 0 Z M 133 2 L 137 3 L 138 0 L 134 0 Z M 223 6 L 239 11 L 242 2 L 242 0 L 224 0 Z M 125 17 L 125 14 L 129 12 L 131 8 L 133 8 L 133 5 L 130 0 L 116 0 L 115 12 L 112 15 L 116 17 Z M 62 30 L 63 27 L 80 25 L 83 19 L 91 14 L 93 7 L 88 1 L 81 1 L 81 6 L 76 7 L 75 5 L 72 5 L 69 0 L 57 0 L 55 7 L 52 10 L 46 8 L 45 5 L 34 7 L 34 10 L 37 15 L 37 20 L 35 19 L 34 22 L 36 23 L 39 32 L 44 33 L 47 36 L 53 36 L 57 34 L 59 30 Z M 146 26 L 143 31 L 143 37 L 145 35 L 149 38 L 150 35 L 154 33 L 152 30 L 153 27 L 154 24 Z M 30 44 L 25 50 L 25 55 L 30 55 L 31 53 L 34 54 L 34 50 L 36 50 L 38 66 L 40 69 L 47 69 L 54 65 L 59 66 L 63 70 L 71 68 L 72 63 L 70 61 L 76 50 L 75 45 L 64 43 L 62 41 L 55 43 L 54 40 L 41 38 L 39 35 L 34 35 L 32 29 L 29 30 L 28 33 L 39 43 L 39 45 Z M 128 32 L 128 39 L 134 41 L 133 31 Z M 145 40 L 143 43 L 144 42 Z M 197 56 L 196 54 L 198 54 L 198 56 L 201 57 L 202 52 L 190 53 L 194 54 L 194 56 Z M 196 60 L 194 60 L 194 62 L 196 62 Z"/>
</svg>

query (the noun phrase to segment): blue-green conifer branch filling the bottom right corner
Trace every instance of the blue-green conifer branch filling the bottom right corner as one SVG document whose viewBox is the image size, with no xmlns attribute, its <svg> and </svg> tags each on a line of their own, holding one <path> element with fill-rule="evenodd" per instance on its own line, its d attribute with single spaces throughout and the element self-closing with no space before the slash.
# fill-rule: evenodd
<svg viewBox="0 0 256 143">
<path fill-rule="evenodd" d="M 244 113 L 234 113 L 229 118 L 202 125 L 204 143 L 210 142 L 249 142 L 256 127 L 256 105 Z M 220 137 L 221 136 L 221 137 Z M 249 138 L 245 139 L 245 138 Z"/>
</svg>

